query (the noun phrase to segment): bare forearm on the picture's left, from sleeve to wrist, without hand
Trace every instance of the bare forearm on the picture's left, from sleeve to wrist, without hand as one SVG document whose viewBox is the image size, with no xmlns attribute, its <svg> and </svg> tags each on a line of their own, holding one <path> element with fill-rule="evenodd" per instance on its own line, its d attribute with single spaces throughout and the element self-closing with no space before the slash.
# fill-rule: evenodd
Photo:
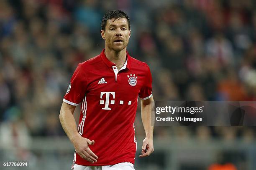
<svg viewBox="0 0 256 170">
<path fill-rule="evenodd" d="M 65 107 L 67 104 L 62 104 L 61 111 L 59 114 L 59 120 L 61 122 L 61 126 L 65 133 L 67 134 L 69 140 L 74 143 L 74 139 L 79 136 L 77 131 L 77 124 L 74 119 L 74 107 L 67 108 Z"/>
</svg>

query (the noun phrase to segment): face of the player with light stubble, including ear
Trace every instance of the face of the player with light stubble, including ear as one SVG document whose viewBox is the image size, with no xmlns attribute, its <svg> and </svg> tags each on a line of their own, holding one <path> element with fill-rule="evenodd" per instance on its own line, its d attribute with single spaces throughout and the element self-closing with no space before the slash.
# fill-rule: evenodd
<svg viewBox="0 0 256 170">
<path fill-rule="evenodd" d="M 108 20 L 105 30 L 101 30 L 101 36 L 105 40 L 106 48 L 110 48 L 116 52 L 127 47 L 131 30 L 128 28 L 126 18 Z"/>
</svg>

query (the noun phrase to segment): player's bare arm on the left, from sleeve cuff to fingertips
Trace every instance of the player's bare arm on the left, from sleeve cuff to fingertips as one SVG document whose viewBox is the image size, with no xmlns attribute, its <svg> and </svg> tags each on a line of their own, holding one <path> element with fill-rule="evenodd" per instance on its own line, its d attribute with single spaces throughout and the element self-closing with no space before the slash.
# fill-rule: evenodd
<svg viewBox="0 0 256 170">
<path fill-rule="evenodd" d="M 83 138 L 77 131 L 76 121 L 74 119 L 74 110 L 76 106 L 69 105 L 62 102 L 59 114 L 59 120 L 62 128 L 67 134 L 69 140 L 73 143 L 75 150 L 85 160 L 94 163 L 97 162 L 98 157 L 90 150 L 88 145 L 94 145 L 94 140 Z"/>
</svg>

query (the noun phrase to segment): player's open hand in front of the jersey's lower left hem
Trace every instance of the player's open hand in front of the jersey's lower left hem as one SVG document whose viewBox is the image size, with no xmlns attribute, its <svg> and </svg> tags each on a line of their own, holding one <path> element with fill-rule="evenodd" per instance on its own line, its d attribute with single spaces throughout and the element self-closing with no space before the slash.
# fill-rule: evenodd
<svg viewBox="0 0 256 170">
<path fill-rule="evenodd" d="M 82 136 L 77 136 L 73 141 L 74 148 L 81 158 L 89 161 L 90 163 L 97 162 L 97 155 L 95 155 L 95 153 L 93 153 L 89 148 L 89 145 L 94 145 L 94 140 L 91 141 L 90 139 L 83 138 Z"/>
</svg>

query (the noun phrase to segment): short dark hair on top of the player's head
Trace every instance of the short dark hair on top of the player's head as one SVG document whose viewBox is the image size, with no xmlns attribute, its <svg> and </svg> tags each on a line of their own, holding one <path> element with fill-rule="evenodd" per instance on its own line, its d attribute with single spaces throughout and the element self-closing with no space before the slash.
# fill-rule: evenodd
<svg viewBox="0 0 256 170">
<path fill-rule="evenodd" d="M 101 21 L 101 29 L 105 30 L 107 21 L 112 20 L 113 18 L 114 19 L 126 18 L 128 21 L 128 28 L 130 30 L 130 18 L 128 17 L 128 15 L 126 13 L 124 13 L 121 10 L 112 10 L 112 11 L 108 11 L 108 13 L 105 13 L 105 15 L 103 16 L 102 21 Z"/>
</svg>

